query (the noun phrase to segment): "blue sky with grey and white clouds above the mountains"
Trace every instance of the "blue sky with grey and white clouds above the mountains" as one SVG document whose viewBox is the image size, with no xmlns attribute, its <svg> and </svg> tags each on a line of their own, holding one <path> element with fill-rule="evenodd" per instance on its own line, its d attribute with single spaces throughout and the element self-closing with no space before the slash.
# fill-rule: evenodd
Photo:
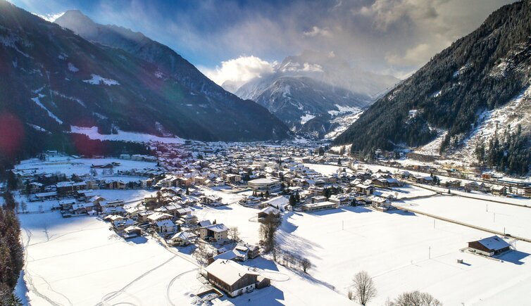
<svg viewBox="0 0 531 306">
<path fill-rule="evenodd" d="M 218 84 L 242 84 L 305 50 L 404 78 L 513 0 L 10 0 L 55 18 L 79 9 L 96 23 L 142 32 Z"/>
</svg>

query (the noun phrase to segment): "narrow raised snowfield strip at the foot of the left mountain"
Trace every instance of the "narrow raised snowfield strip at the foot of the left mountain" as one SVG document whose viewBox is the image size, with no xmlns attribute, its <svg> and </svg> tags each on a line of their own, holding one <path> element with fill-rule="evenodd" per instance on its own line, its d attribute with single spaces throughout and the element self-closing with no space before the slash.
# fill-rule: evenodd
<svg viewBox="0 0 531 306">
<path fill-rule="evenodd" d="M 99 140 L 121 140 L 137 142 L 161 142 L 163 144 L 184 144 L 185 141 L 179 137 L 159 137 L 150 134 L 118 131 L 118 134 L 99 134 L 98 127 L 70 127 L 70 132 L 85 134 L 89 139 Z"/>
</svg>

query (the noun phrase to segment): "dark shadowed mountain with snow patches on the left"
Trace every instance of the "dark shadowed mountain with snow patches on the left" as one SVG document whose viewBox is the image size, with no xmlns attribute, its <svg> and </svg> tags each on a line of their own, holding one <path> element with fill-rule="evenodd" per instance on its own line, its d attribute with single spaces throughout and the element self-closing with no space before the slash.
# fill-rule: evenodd
<svg viewBox="0 0 531 306">
<path fill-rule="evenodd" d="M 92 22 L 79 12 L 59 19 L 68 18 Z M 0 110 L 31 132 L 96 126 L 106 134 L 120 129 L 206 141 L 288 136 L 266 108 L 218 87 L 168 47 L 108 28 L 113 34 L 96 32 L 122 48 L 89 42 L 0 1 Z"/>
</svg>

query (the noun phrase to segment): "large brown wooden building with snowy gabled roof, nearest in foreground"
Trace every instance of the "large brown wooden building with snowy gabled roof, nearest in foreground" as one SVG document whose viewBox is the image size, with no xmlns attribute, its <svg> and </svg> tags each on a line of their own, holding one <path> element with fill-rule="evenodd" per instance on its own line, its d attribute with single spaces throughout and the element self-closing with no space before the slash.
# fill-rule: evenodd
<svg viewBox="0 0 531 306">
<path fill-rule="evenodd" d="M 260 282 L 258 273 L 251 272 L 232 260 L 215 260 L 205 268 L 205 271 L 208 281 L 232 298 L 253 291 Z"/>
</svg>

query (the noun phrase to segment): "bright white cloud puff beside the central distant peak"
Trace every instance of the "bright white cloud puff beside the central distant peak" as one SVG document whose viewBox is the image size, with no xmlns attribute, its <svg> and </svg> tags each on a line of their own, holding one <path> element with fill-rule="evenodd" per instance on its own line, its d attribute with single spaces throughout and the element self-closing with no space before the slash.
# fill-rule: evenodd
<svg viewBox="0 0 531 306">
<path fill-rule="evenodd" d="M 200 67 L 199 70 L 216 84 L 228 85 L 231 91 L 236 91 L 255 77 L 263 77 L 273 73 L 275 64 L 256 56 L 240 56 L 239 58 L 224 60 L 220 66 L 216 66 L 214 69 Z"/>
</svg>

